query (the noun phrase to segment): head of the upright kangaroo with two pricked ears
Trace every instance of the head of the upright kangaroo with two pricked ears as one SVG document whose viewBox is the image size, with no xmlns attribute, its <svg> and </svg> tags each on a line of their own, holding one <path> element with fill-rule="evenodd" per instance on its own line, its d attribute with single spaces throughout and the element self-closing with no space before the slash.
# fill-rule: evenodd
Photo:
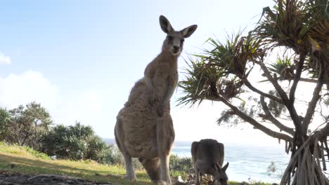
<svg viewBox="0 0 329 185">
<path fill-rule="evenodd" d="M 191 36 L 198 25 L 191 25 L 181 31 L 175 31 L 172 25 L 170 25 L 169 20 L 163 15 L 160 15 L 160 27 L 162 31 L 167 34 L 163 42 L 162 51 L 169 51 L 172 55 L 178 56 L 183 50 L 184 38 Z"/>
</svg>

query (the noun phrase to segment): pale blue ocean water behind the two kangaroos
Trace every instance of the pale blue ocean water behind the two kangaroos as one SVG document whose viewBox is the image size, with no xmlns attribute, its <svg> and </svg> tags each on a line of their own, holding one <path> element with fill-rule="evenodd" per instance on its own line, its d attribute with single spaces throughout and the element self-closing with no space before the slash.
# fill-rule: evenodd
<svg viewBox="0 0 329 185">
<path fill-rule="evenodd" d="M 115 143 L 113 139 L 105 139 Z M 175 142 L 172 153 L 180 157 L 191 157 L 192 142 Z M 245 144 L 225 144 L 224 165 L 229 162 L 226 174 L 233 181 L 264 181 L 279 183 L 289 155 L 284 146 L 255 146 Z M 275 167 L 275 172 L 269 172 L 269 166 Z"/>
</svg>

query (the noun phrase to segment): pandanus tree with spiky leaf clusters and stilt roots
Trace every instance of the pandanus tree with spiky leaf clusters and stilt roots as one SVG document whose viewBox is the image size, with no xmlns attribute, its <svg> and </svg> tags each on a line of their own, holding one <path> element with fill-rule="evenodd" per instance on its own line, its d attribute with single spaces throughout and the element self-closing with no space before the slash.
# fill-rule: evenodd
<svg viewBox="0 0 329 185">
<path fill-rule="evenodd" d="M 179 83 L 180 104 L 222 102 L 227 109 L 219 124 L 250 123 L 284 141 L 291 158 L 280 184 L 329 184 L 325 177 L 328 7 L 328 0 L 277 0 L 273 8 L 263 9 L 256 28 L 246 36 L 238 32 L 225 42 L 208 39 L 210 47 L 188 57 L 186 76 Z M 269 57 L 277 48 L 286 52 L 276 59 Z M 254 74 L 259 81 L 250 77 Z M 271 84 L 271 89 L 262 89 L 262 83 Z M 297 99 L 305 84 L 312 87 L 309 100 L 307 96 Z"/>
</svg>

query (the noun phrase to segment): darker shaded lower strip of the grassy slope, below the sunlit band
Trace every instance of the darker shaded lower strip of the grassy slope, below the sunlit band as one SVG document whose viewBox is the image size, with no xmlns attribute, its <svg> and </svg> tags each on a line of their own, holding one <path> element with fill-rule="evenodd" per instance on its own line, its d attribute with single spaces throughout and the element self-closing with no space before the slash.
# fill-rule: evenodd
<svg viewBox="0 0 329 185">
<path fill-rule="evenodd" d="M 55 161 L 55 160 L 54 160 Z M 11 164 L 15 164 L 15 167 L 11 167 Z M 88 165 L 88 164 L 86 164 Z M 24 172 L 27 174 L 60 174 L 69 175 L 73 177 L 80 177 L 98 182 L 112 182 L 120 184 L 151 184 L 149 181 L 143 180 L 141 182 L 131 183 L 124 179 L 122 172 L 117 170 L 115 174 L 110 174 L 110 168 L 106 169 L 94 169 L 89 170 L 80 167 L 72 167 L 70 165 L 62 165 L 58 163 L 52 163 L 52 160 L 47 161 L 40 160 L 38 158 L 30 159 L 20 156 L 8 156 L 0 153 L 0 169 L 10 170 L 13 172 Z M 105 167 L 106 168 L 106 167 Z M 138 172 L 136 173 L 138 179 L 147 179 L 147 174 Z"/>
</svg>

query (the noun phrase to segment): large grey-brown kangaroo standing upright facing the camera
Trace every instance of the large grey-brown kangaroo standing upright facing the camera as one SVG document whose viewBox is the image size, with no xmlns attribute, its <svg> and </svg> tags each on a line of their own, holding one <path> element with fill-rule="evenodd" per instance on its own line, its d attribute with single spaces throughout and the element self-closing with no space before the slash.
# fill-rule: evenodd
<svg viewBox="0 0 329 185">
<path fill-rule="evenodd" d="M 161 15 L 160 27 L 167 34 L 162 51 L 148 64 L 117 115 L 115 141 L 124 156 L 128 179 L 136 179 L 131 158 L 138 158 L 152 181 L 171 184 L 169 154 L 175 134 L 170 98 L 178 83 L 177 59 L 184 38 L 191 36 L 197 25 L 177 32 Z"/>
</svg>

